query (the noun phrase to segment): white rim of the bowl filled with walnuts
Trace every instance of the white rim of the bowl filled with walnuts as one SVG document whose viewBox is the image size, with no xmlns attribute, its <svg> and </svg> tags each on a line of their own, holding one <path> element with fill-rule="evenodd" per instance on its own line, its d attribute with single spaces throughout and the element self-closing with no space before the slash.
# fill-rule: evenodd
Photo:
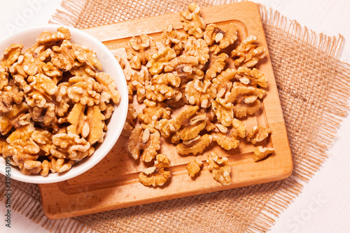
<svg viewBox="0 0 350 233">
<path fill-rule="evenodd" d="M 104 53 L 104 55 L 107 55 L 108 57 L 111 57 L 113 59 L 111 59 L 111 62 L 114 63 L 113 66 L 116 66 L 116 71 L 118 71 L 118 73 L 120 73 L 120 75 L 124 76 L 123 73 L 123 69 L 121 68 L 118 60 L 114 57 L 113 53 L 111 52 L 111 50 L 109 50 L 109 48 L 106 47 L 106 45 L 104 45 L 101 41 L 99 41 L 97 38 L 95 38 L 94 36 L 88 34 L 87 32 L 80 30 L 80 29 L 76 29 L 74 27 L 70 27 L 70 26 L 66 26 L 63 24 L 41 24 L 41 25 L 36 25 L 34 27 L 28 27 L 26 29 L 21 29 L 19 31 L 15 31 L 12 34 L 9 34 L 3 38 L 0 38 L 0 45 L 2 43 L 4 43 L 4 41 L 9 40 L 10 38 L 15 38 L 15 37 L 19 37 L 22 34 L 28 34 L 31 31 L 35 31 L 38 29 L 41 29 L 41 31 L 45 31 L 45 30 L 57 30 L 59 27 L 66 27 L 67 29 L 69 29 L 69 31 L 71 32 L 72 36 L 73 34 L 80 34 L 82 36 L 86 36 L 87 38 L 89 38 L 90 41 L 92 41 L 92 43 L 95 43 L 99 48 L 101 48 L 102 52 Z M 35 35 L 36 37 L 38 35 Z M 36 38 L 35 37 L 35 38 Z M 21 38 L 18 38 L 18 42 L 20 42 Z M 74 40 L 72 38 L 72 40 Z M 17 43 L 16 41 L 14 41 L 14 43 Z M 76 42 L 74 42 L 76 43 Z M 79 45 L 83 45 L 82 43 L 78 42 Z M 9 44 L 10 45 L 10 44 Z M 1 57 L 2 57 L 2 53 L 3 51 L 1 51 Z M 101 53 L 101 52 L 100 52 Z M 102 64 L 102 66 L 104 66 L 104 64 Z M 103 72 L 103 69 L 102 69 Z M 109 74 L 110 75 L 110 74 Z M 112 76 L 112 78 L 115 76 Z M 49 177 L 50 173 L 48 174 L 48 176 L 43 177 L 40 174 L 32 174 L 32 175 L 25 175 L 25 174 L 10 174 L 10 178 L 16 181 L 22 181 L 22 182 L 26 182 L 26 183 L 37 183 L 37 184 L 44 184 L 44 183 L 57 183 L 57 182 L 61 182 L 61 181 L 66 181 L 69 180 L 70 178 L 74 178 L 76 176 L 79 176 L 80 174 L 85 173 L 86 171 L 88 171 L 89 169 L 91 169 L 92 167 L 94 167 L 96 164 L 98 164 L 104 157 L 106 157 L 106 155 L 109 153 L 109 151 L 113 148 L 113 146 L 116 144 L 116 141 L 118 141 L 121 132 L 123 131 L 123 125 L 124 122 L 127 118 L 127 111 L 128 111 L 128 104 L 129 104 L 129 99 L 127 97 L 127 83 L 126 80 L 124 78 L 124 81 L 121 82 L 122 86 L 117 86 L 118 90 L 120 92 L 120 94 L 122 95 L 120 98 L 120 103 L 118 104 L 118 107 L 120 107 L 120 109 L 118 109 L 118 114 L 123 114 L 120 118 L 121 118 L 121 122 L 120 122 L 120 127 L 118 127 L 118 130 L 115 131 L 113 130 L 113 134 L 114 134 L 114 138 L 113 140 L 111 140 L 111 142 L 108 145 L 105 145 L 104 147 L 102 147 L 103 143 L 100 144 L 99 146 L 99 156 L 98 157 L 93 157 L 94 153 L 88 157 L 88 159 L 90 160 L 87 164 L 85 164 L 85 166 L 80 167 L 80 169 L 70 169 L 69 171 L 64 172 L 63 174 L 55 174 L 54 177 Z M 125 96 L 123 96 L 123 92 L 121 92 L 120 90 L 125 90 L 123 92 L 125 92 Z M 115 105 L 116 106 L 116 105 Z M 116 108 L 113 112 L 116 113 Z M 111 118 L 113 117 L 113 114 L 111 116 Z M 109 120 L 111 120 L 111 118 Z M 122 125 L 123 122 L 123 125 Z M 111 129 L 109 129 L 111 132 Z M 107 130 L 107 133 L 109 131 Z M 3 156 L 1 156 L 3 157 Z M 4 159 L 4 161 L 6 161 Z M 6 164 L 6 162 L 4 163 L 4 165 Z M 6 167 L 1 166 L 0 167 L 0 174 L 2 174 L 3 176 L 6 176 L 7 172 L 6 172 Z M 11 170 L 12 169 L 18 169 L 13 167 L 13 165 L 10 165 Z"/>
</svg>

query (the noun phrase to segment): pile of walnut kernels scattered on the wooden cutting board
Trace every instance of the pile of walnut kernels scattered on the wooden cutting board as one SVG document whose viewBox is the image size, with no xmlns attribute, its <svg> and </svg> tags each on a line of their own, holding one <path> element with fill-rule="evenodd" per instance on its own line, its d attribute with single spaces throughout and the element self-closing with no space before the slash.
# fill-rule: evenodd
<svg viewBox="0 0 350 233">
<path fill-rule="evenodd" d="M 260 109 L 266 94 L 262 88 L 267 87 L 267 78 L 255 67 L 265 57 L 258 38 L 239 41 L 234 23 L 205 24 L 195 3 L 180 13 L 180 20 L 185 33 L 167 25 L 160 41 L 134 36 L 125 48 L 128 62 L 121 59 L 130 104 L 136 96 L 134 104 L 141 106 L 139 113 L 129 108 L 123 132 L 130 135 L 132 157 L 138 160 L 141 155 L 142 161 L 155 159 L 157 164 L 158 156 L 166 157 L 160 154 L 161 137 L 182 156 L 206 153 L 214 143 L 231 150 L 242 140 L 255 144 L 266 139 L 271 133 L 268 127 L 254 127 L 247 134 L 243 122 Z M 207 164 L 217 181 L 231 183 L 227 158 L 209 153 Z M 186 166 L 188 174 L 195 177 L 202 165 L 192 160 Z M 141 183 L 162 185 L 171 176 L 162 176 L 160 182 L 157 172 L 157 166 L 146 169 L 140 174 Z"/>
</svg>

